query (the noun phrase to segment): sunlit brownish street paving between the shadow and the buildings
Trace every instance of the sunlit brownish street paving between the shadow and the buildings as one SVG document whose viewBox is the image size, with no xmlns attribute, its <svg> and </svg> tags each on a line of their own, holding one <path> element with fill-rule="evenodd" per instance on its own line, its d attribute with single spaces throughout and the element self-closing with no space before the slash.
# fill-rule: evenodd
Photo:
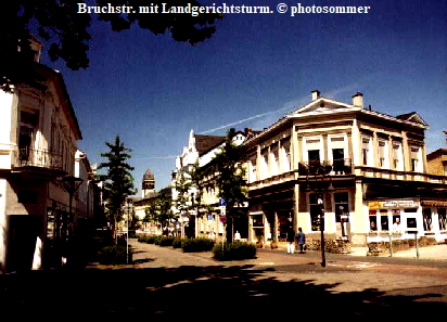
<svg viewBox="0 0 447 322">
<path fill-rule="evenodd" d="M 319 253 L 305 256 L 301 254 L 286 255 L 281 252 L 261 249 L 256 259 L 219 262 L 212 258 L 212 253 L 184 254 L 170 247 L 159 247 L 151 244 L 133 242 L 137 254 L 135 259 L 143 259 L 149 255 L 150 261 L 137 263 L 136 268 L 189 266 L 245 266 L 250 269 L 268 270 L 265 275 L 274 276 L 281 281 L 291 279 L 312 279 L 317 284 L 336 284 L 332 291 L 354 292 L 368 288 L 391 291 L 412 287 L 447 286 L 446 267 L 414 266 L 408 262 L 387 263 L 371 262 L 365 257 L 357 260 L 332 259 L 327 255 L 327 267 L 321 268 Z M 153 259 L 153 260 L 152 260 Z M 144 260 L 142 260 L 144 261 Z M 445 298 L 447 301 L 447 298 Z"/>
</svg>

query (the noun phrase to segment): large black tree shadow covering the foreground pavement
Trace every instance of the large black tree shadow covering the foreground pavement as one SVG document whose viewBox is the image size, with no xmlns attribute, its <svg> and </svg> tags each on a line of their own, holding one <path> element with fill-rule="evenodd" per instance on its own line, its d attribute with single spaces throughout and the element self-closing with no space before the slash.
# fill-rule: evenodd
<svg viewBox="0 0 447 322">
<path fill-rule="evenodd" d="M 332 288 L 337 284 L 316 284 L 311 275 L 284 282 L 266 272 L 252 266 L 31 271 L 0 275 L 0 300 L 3 317 L 50 320 L 412 321 L 446 309 L 445 302 L 435 301 L 437 293 L 336 293 Z"/>
</svg>

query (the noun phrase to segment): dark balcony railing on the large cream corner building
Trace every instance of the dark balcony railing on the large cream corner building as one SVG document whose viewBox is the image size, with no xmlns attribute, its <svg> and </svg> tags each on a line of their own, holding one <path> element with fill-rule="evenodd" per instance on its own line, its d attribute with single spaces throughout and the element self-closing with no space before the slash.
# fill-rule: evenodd
<svg viewBox="0 0 447 322">
<path fill-rule="evenodd" d="M 350 158 L 333 160 L 310 160 L 298 164 L 299 176 L 343 176 L 353 173 L 353 162 Z"/>
</svg>

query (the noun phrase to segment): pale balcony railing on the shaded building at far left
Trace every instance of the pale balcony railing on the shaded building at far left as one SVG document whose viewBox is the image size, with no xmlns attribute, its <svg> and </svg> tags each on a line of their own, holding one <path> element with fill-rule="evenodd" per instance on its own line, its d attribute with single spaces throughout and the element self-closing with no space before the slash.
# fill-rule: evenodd
<svg viewBox="0 0 447 322">
<path fill-rule="evenodd" d="M 13 167 L 39 167 L 62 170 L 62 156 L 48 150 L 18 147 L 14 151 Z"/>
</svg>

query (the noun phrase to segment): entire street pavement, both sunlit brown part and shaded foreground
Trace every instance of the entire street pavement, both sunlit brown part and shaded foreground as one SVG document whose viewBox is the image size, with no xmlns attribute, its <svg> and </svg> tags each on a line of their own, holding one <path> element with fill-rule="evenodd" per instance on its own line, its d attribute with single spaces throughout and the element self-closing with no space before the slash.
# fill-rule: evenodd
<svg viewBox="0 0 447 322">
<path fill-rule="evenodd" d="M 133 263 L 81 271 L 0 275 L 4 317 L 143 321 L 363 321 L 438 317 L 447 307 L 445 262 L 413 265 L 260 249 L 256 259 L 218 262 L 132 241 Z M 396 262 L 397 261 L 397 262 Z"/>
</svg>

